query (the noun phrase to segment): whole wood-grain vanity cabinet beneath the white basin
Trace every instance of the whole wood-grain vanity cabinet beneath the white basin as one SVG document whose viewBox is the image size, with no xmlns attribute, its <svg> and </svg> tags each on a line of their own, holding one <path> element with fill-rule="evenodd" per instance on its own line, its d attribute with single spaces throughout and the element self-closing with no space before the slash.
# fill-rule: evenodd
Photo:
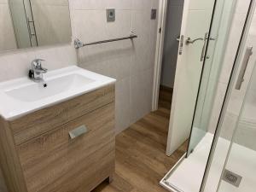
<svg viewBox="0 0 256 192">
<path fill-rule="evenodd" d="M 0 126 L 9 192 L 89 192 L 113 176 L 114 84 Z"/>
</svg>

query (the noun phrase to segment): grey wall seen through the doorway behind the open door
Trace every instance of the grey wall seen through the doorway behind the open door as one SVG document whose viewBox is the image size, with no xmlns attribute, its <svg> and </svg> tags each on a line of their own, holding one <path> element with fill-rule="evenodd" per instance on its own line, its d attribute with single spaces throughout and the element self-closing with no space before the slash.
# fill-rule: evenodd
<svg viewBox="0 0 256 192">
<path fill-rule="evenodd" d="M 177 64 L 177 36 L 180 35 L 182 17 L 183 0 L 169 0 L 160 84 L 172 88 Z"/>
</svg>

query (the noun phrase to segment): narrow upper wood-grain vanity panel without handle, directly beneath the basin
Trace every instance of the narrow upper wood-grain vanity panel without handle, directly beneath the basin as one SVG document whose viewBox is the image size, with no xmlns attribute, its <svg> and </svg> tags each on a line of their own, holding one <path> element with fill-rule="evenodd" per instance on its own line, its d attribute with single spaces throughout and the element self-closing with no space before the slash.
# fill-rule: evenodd
<svg viewBox="0 0 256 192">
<path fill-rule="evenodd" d="M 114 101 L 114 84 L 9 122 L 15 144 L 25 143 Z"/>
</svg>

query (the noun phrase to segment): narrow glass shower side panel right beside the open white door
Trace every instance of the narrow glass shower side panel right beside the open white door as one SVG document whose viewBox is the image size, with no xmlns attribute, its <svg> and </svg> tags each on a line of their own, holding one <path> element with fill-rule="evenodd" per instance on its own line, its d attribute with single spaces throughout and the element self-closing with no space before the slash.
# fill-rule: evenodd
<svg viewBox="0 0 256 192">
<path fill-rule="evenodd" d="M 195 117 L 189 138 L 187 157 L 194 151 L 209 129 L 213 102 L 217 92 L 218 80 L 223 67 L 224 52 L 230 32 L 230 11 L 236 1 L 218 0 L 212 21 L 210 41 L 207 48 L 207 59 L 201 75 L 201 86 L 195 108 Z M 211 55 L 211 56 L 210 56 Z M 230 62 L 232 63 L 232 62 Z M 213 132 L 213 131 L 212 131 Z M 207 161 L 207 155 L 204 162 Z"/>
</svg>

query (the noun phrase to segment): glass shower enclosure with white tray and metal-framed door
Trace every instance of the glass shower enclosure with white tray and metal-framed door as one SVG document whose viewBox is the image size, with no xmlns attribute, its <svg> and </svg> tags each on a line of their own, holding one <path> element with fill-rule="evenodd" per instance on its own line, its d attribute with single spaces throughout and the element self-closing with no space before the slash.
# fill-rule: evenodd
<svg viewBox="0 0 256 192">
<path fill-rule="evenodd" d="M 255 4 L 215 1 L 188 151 L 160 182 L 166 189 L 256 189 Z"/>
</svg>

